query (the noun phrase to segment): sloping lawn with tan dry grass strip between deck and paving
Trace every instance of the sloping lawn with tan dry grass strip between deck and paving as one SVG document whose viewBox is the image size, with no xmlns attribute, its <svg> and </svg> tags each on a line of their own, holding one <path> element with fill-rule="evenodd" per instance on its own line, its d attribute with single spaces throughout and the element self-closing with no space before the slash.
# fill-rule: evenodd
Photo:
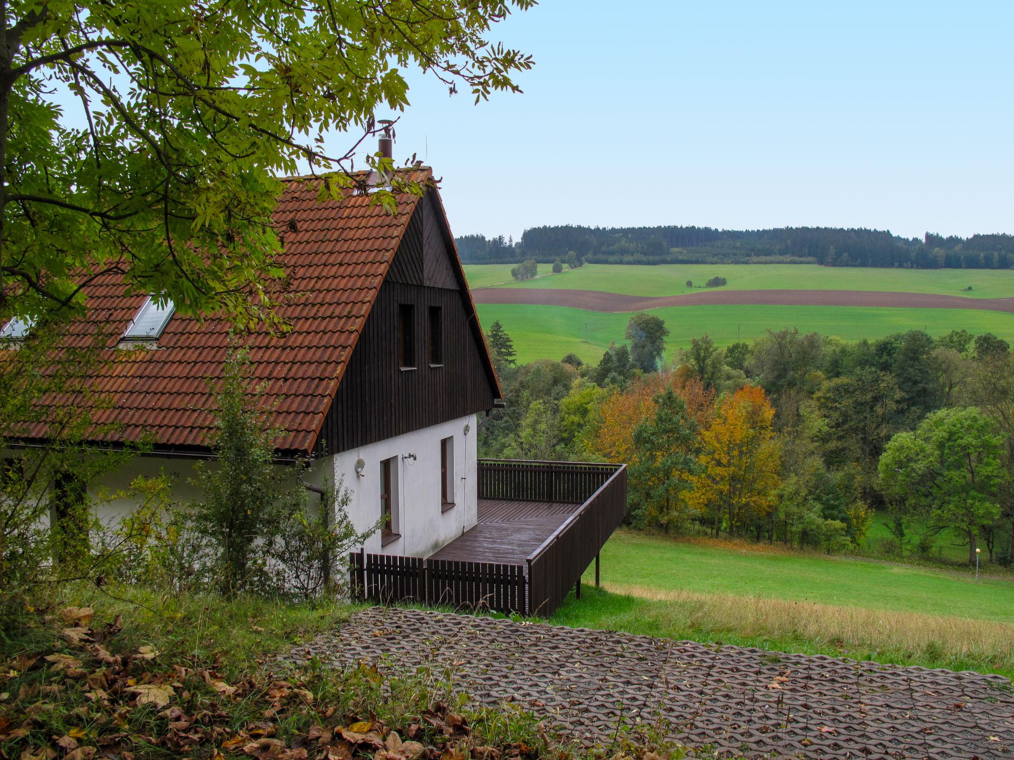
<svg viewBox="0 0 1014 760">
<path fill-rule="evenodd" d="M 1014 676 L 1014 582 L 618 532 L 554 622 Z"/>
</svg>

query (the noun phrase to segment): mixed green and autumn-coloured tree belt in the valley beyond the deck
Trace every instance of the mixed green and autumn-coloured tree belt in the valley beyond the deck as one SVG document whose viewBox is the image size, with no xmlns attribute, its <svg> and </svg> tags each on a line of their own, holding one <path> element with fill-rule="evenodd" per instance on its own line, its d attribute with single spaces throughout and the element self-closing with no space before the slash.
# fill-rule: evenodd
<svg viewBox="0 0 1014 760">
<path fill-rule="evenodd" d="M 944 543 L 1012 563 L 1014 357 L 991 334 L 846 343 L 798 329 L 663 360 L 635 314 L 597 364 L 518 366 L 488 333 L 507 405 L 481 456 L 629 465 L 630 525 L 826 551 L 931 556 Z"/>
</svg>

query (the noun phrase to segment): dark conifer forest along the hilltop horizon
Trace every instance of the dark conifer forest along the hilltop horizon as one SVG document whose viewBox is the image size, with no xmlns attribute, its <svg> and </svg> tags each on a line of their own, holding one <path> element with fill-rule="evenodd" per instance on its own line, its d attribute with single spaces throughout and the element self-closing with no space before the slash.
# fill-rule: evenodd
<svg viewBox="0 0 1014 760">
<path fill-rule="evenodd" d="M 819 263 L 828 267 L 1009 269 L 1014 235 L 927 232 L 922 240 L 887 231 L 835 227 L 718 230 L 711 227 L 532 227 L 503 235 L 456 238 L 464 263 L 550 263 L 574 251 L 592 263 Z"/>
</svg>

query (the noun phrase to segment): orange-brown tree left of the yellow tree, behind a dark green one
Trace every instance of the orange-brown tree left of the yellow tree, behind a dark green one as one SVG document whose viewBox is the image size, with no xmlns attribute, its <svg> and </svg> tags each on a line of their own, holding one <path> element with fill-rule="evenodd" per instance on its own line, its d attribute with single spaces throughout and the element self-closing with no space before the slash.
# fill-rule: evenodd
<svg viewBox="0 0 1014 760">
<path fill-rule="evenodd" d="M 704 428 L 712 413 L 715 392 L 696 378 L 679 373 L 644 375 L 602 401 L 598 430 L 590 441 L 593 453 L 607 462 L 637 462 L 634 429 L 655 414 L 655 398 L 672 390 L 683 399 L 686 411 L 699 428 Z"/>
</svg>

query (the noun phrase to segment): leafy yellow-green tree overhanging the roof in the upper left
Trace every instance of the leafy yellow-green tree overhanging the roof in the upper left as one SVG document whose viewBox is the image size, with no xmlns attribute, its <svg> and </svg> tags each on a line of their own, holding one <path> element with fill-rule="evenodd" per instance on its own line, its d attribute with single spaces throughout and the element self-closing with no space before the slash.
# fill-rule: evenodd
<svg viewBox="0 0 1014 760">
<path fill-rule="evenodd" d="M 0 321 L 84 305 L 105 273 L 184 313 L 271 319 L 284 277 L 278 175 L 321 198 L 353 171 L 413 69 L 478 102 L 530 58 L 489 40 L 531 0 L 5 3 L 0 56 Z M 329 150 L 325 132 L 349 134 Z M 357 136 L 361 136 L 358 137 Z M 379 153 L 395 192 L 424 186 Z"/>
</svg>

